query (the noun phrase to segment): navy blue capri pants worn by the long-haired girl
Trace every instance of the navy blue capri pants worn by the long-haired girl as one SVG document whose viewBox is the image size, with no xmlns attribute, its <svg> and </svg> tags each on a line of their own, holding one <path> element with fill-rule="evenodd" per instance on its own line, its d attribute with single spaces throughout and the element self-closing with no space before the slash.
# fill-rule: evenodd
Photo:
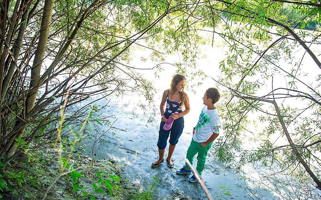
<svg viewBox="0 0 321 200">
<path fill-rule="evenodd" d="M 160 132 L 159 132 L 158 142 L 157 142 L 157 147 L 159 149 L 166 148 L 168 137 L 169 137 L 169 144 L 171 145 L 177 144 L 178 138 L 183 132 L 184 118 L 179 117 L 178 119 L 175 119 L 172 124 L 172 127 L 168 131 L 165 131 L 163 129 L 164 124 L 165 122 L 163 121 L 160 122 Z"/>
</svg>

